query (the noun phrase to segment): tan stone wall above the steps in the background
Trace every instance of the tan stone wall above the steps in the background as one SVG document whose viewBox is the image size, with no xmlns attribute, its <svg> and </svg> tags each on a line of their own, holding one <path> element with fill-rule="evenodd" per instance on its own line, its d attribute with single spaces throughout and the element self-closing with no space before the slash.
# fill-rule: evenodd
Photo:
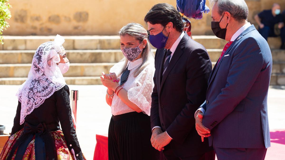
<svg viewBox="0 0 285 160">
<path fill-rule="evenodd" d="M 285 9 L 285 0 L 246 2 L 251 23 L 256 13 L 270 9 L 274 2 Z M 147 28 L 144 16 L 156 3 L 176 7 L 176 0 L 10 0 L 12 18 L 3 35 L 116 35 L 129 22 L 141 23 Z M 201 20 L 190 21 L 193 35 L 213 35 L 211 13 L 204 14 Z"/>
</svg>

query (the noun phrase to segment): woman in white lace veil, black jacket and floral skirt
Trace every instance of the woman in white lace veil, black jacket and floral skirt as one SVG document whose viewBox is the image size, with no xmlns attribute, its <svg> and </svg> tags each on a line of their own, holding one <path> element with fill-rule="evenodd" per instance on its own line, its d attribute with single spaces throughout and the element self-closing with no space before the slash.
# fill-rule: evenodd
<svg viewBox="0 0 285 160">
<path fill-rule="evenodd" d="M 17 93 L 14 125 L 1 160 L 85 159 L 74 129 L 69 88 L 62 76 L 69 69 L 63 42 L 57 35 L 36 50 L 28 79 Z"/>
</svg>

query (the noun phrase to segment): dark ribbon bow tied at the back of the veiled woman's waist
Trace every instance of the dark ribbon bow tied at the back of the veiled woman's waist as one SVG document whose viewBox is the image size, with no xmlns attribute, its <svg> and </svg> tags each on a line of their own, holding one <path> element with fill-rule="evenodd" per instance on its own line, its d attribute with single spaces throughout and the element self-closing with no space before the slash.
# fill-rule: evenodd
<svg viewBox="0 0 285 160">
<path fill-rule="evenodd" d="M 26 140 L 21 143 L 17 149 L 15 160 L 22 160 L 27 150 L 29 143 L 35 136 L 35 158 L 36 159 L 46 159 L 46 152 L 44 147 L 44 140 L 42 134 L 46 133 L 46 124 L 40 123 L 38 126 L 32 126 L 31 124 L 25 123 L 24 134 L 28 136 Z"/>
</svg>

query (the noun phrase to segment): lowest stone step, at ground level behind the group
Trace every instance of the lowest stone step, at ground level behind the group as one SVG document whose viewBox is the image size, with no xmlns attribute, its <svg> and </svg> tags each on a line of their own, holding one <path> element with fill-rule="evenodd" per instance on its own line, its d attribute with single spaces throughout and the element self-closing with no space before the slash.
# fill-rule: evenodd
<svg viewBox="0 0 285 160">
<path fill-rule="evenodd" d="M 0 78 L 0 85 L 21 85 L 27 78 L 15 77 L 15 78 Z M 99 76 L 94 77 L 64 77 L 66 84 L 68 85 L 101 85 L 101 79 Z M 270 85 L 285 85 L 284 73 L 273 73 L 270 79 Z"/>
</svg>

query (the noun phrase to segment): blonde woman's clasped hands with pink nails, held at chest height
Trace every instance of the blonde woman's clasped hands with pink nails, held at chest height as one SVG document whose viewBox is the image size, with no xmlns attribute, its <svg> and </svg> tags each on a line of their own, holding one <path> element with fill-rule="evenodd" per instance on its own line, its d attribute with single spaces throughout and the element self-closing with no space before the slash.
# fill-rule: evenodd
<svg viewBox="0 0 285 160">
<path fill-rule="evenodd" d="M 100 78 L 102 84 L 108 89 L 115 91 L 115 89 L 119 86 L 120 78 L 117 78 L 116 73 L 105 74 L 102 72 L 102 76 Z"/>
</svg>

